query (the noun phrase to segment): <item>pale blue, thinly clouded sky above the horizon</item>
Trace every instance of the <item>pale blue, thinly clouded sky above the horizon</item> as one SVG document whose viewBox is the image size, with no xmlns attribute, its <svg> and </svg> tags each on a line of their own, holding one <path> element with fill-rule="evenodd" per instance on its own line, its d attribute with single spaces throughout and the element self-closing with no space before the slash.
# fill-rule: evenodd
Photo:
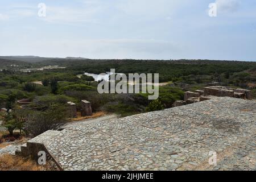
<svg viewBox="0 0 256 182">
<path fill-rule="evenodd" d="M 0 0 L 0 43 L 2 56 L 256 61 L 256 1 Z"/>
</svg>

